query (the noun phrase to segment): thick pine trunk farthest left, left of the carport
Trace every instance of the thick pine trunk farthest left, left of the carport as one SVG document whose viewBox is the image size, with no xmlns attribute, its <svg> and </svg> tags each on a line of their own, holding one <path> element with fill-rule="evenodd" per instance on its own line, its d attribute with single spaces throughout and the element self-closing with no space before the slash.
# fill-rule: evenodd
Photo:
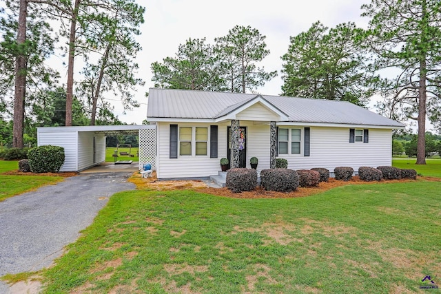
<svg viewBox="0 0 441 294">
<path fill-rule="evenodd" d="M 26 16 L 28 0 L 20 0 L 17 46 L 19 55 L 15 59 L 14 126 L 12 147 L 23 148 L 23 125 L 25 117 L 26 56 L 23 45 L 26 41 Z"/>
</svg>

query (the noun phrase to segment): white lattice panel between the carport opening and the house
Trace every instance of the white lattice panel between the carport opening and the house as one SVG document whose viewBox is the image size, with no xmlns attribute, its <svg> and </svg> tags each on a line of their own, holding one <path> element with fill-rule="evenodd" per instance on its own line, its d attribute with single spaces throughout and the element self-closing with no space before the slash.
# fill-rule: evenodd
<svg viewBox="0 0 441 294">
<path fill-rule="evenodd" d="M 156 129 L 139 130 L 139 170 L 150 163 L 152 170 L 156 170 Z"/>
</svg>

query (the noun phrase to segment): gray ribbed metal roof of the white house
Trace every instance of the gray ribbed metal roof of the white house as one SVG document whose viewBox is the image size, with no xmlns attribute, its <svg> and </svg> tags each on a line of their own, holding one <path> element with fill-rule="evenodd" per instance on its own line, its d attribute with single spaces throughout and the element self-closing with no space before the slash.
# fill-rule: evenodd
<svg viewBox="0 0 441 294">
<path fill-rule="evenodd" d="M 147 118 L 215 119 L 234 111 L 258 94 L 151 88 Z M 333 123 L 404 127 L 402 123 L 346 101 L 262 96 L 293 123 Z"/>
</svg>

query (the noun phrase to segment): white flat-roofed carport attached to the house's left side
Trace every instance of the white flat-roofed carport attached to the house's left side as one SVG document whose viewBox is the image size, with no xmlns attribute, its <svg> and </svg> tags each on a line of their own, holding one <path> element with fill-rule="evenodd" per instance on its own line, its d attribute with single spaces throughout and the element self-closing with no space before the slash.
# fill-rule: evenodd
<svg viewBox="0 0 441 294">
<path fill-rule="evenodd" d="M 105 138 L 113 134 L 139 136 L 139 169 L 150 163 L 156 170 L 156 125 L 90 125 L 38 127 L 37 143 L 64 148 L 60 171 L 83 171 L 105 162 Z"/>
</svg>

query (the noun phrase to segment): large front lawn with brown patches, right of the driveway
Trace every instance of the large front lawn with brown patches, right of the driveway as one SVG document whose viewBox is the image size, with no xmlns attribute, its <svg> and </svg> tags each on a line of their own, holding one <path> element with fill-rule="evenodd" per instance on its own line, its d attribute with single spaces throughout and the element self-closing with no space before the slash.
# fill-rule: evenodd
<svg viewBox="0 0 441 294">
<path fill-rule="evenodd" d="M 45 293 L 420 291 L 425 275 L 441 283 L 440 190 L 417 180 L 290 199 L 117 193 L 43 273 Z"/>
</svg>

